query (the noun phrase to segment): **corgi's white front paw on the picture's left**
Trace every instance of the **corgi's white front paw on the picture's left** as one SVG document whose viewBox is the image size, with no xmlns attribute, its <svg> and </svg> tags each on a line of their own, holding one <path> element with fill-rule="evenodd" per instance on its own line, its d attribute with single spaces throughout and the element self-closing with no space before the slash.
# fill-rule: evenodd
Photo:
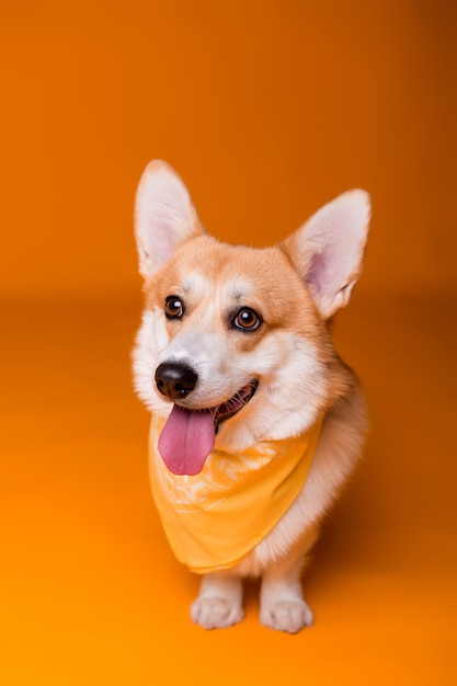
<svg viewBox="0 0 457 686">
<path fill-rule="evenodd" d="M 206 574 L 191 617 L 204 629 L 220 629 L 238 624 L 244 617 L 241 579 L 230 572 Z"/>
</svg>

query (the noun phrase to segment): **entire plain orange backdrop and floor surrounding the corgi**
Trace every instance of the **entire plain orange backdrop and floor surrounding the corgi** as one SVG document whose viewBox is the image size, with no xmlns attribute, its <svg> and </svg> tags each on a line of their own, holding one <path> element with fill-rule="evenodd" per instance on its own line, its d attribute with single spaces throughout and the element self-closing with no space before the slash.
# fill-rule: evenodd
<svg viewBox="0 0 457 686">
<path fill-rule="evenodd" d="M 445 0 L 1 2 L 2 684 L 456 683 L 456 41 Z M 232 242 L 373 196 L 336 331 L 373 428 L 297 637 L 256 584 L 242 625 L 192 626 L 151 502 L 128 354 L 156 157 Z"/>
</svg>

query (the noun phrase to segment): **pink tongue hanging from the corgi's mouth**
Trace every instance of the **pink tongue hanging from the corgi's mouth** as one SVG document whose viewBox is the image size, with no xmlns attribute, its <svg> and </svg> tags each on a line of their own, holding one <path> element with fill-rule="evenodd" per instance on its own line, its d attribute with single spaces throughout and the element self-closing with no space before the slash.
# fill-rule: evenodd
<svg viewBox="0 0 457 686">
<path fill-rule="evenodd" d="M 159 453 L 174 475 L 197 475 L 213 450 L 214 412 L 173 405 L 159 436 Z"/>
</svg>

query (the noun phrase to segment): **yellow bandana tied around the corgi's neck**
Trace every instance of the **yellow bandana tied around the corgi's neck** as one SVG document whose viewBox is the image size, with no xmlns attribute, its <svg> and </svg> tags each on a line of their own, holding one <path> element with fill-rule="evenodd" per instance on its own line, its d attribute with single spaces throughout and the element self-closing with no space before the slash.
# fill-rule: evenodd
<svg viewBox="0 0 457 686">
<path fill-rule="evenodd" d="M 171 548 L 193 572 L 233 567 L 301 491 L 322 420 L 296 438 L 265 441 L 233 455 L 213 450 L 196 476 L 176 476 L 165 467 L 157 447 L 164 422 L 152 415 L 149 468 Z"/>
</svg>

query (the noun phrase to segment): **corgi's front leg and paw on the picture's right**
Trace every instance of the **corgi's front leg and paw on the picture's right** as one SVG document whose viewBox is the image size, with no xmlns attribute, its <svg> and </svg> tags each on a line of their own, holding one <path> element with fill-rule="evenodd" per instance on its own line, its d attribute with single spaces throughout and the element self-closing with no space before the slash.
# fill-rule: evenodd
<svg viewBox="0 0 457 686">
<path fill-rule="evenodd" d="M 296 633 L 313 622 L 311 609 L 306 604 L 300 573 L 305 556 L 318 537 L 318 527 L 312 526 L 289 554 L 270 564 L 262 575 L 260 596 L 260 621 L 265 627 Z"/>
</svg>

